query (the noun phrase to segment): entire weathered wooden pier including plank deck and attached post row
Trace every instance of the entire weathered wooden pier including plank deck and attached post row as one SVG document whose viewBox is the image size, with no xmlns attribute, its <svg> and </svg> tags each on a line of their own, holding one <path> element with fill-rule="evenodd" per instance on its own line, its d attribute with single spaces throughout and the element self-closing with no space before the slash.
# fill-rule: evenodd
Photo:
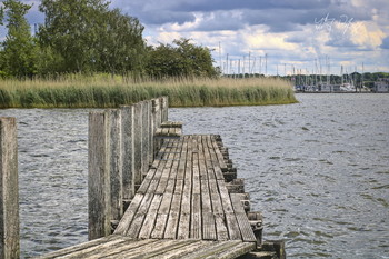
<svg viewBox="0 0 389 259">
<path fill-rule="evenodd" d="M 90 113 L 89 239 L 40 258 L 285 258 L 220 136 L 182 135 L 167 98 Z"/>
</svg>

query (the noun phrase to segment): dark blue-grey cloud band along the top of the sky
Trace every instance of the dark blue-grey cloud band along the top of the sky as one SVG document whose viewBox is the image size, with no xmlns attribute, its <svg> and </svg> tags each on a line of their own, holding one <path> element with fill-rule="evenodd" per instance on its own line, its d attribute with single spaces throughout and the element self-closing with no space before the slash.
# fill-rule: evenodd
<svg viewBox="0 0 389 259">
<path fill-rule="evenodd" d="M 380 0 L 376 0 L 380 1 Z M 312 24 L 328 16 L 337 21 L 360 21 L 372 19 L 372 8 L 356 8 L 349 1 L 341 0 L 133 0 L 112 1 L 113 7 L 137 17 L 146 24 L 191 22 L 193 13 L 211 14 L 194 30 L 239 30 L 245 26 L 263 24 L 270 32 L 299 31 L 299 26 Z M 240 11 L 240 18 L 230 17 Z"/>
</svg>

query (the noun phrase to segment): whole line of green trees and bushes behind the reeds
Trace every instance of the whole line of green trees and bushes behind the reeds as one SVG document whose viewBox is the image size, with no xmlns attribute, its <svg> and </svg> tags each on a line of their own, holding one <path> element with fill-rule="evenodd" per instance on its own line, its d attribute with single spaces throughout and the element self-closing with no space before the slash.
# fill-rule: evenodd
<svg viewBox="0 0 389 259">
<path fill-rule="evenodd" d="M 44 23 L 37 33 L 26 14 L 32 6 L 6 0 L 0 26 L 0 78 L 32 78 L 63 73 L 215 77 L 211 49 L 177 39 L 148 46 L 137 18 L 110 9 L 104 0 L 42 0 Z"/>
</svg>

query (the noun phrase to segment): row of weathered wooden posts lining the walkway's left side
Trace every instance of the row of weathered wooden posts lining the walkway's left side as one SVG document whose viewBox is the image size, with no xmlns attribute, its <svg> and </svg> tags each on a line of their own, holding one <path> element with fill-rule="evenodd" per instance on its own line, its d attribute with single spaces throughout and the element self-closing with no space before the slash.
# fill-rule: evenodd
<svg viewBox="0 0 389 259">
<path fill-rule="evenodd" d="M 89 114 L 89 239 L 110 233 L 154 158 L 168 98 Z"/>
</svg>

